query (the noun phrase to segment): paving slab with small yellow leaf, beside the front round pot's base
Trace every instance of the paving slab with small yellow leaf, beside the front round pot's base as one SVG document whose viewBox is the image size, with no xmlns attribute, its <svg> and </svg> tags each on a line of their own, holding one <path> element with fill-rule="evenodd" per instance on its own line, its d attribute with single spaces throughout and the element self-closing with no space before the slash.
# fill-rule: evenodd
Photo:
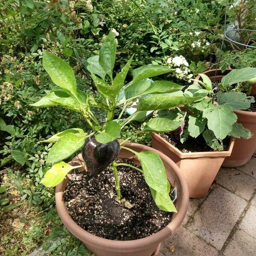
<svg viewBox="0 0 256 256">
<path fill-rule="evenodd" d="M 172 247 L 174 252 L 170 251 Z M 162 243 L 158 256 L 217 256 L 218 250 L 181 226 L 176 233 Z"/>
</svg>

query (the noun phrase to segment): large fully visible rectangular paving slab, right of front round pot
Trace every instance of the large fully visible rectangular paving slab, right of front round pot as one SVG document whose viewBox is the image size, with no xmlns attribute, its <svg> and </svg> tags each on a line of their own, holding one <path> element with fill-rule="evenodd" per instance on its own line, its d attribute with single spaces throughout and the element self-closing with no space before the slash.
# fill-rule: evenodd
<svg viewBox="0 0 256 256">
<path fill-rule="evenodd" d="M 221 250 L 246 206 L 244 199 L 217 186 L 193 216 L 188 230 Z"/>
</svg>

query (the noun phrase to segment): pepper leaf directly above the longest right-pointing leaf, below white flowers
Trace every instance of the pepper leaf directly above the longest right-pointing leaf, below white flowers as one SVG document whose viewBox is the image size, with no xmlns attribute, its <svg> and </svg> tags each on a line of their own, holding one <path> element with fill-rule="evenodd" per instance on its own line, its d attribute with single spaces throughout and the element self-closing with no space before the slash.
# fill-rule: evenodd
<svg viewBox="0 0 256 256">
<path fill-rule="evenodd" d="M 171 81 L 154 81 L 154 83 L 143 94 L 151 93 L 173 93 L 182 90 L 184 86 Z"/>
</svg>

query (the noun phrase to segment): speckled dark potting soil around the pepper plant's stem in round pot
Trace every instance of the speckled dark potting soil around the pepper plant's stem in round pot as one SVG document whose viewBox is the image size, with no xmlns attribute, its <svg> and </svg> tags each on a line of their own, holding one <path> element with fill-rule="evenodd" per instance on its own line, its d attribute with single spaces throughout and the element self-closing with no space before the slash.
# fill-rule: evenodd
<svg viewBox="0 0 256 256">
<path fill-rule="evenodd" d="M 131 160 L 120 161 L 134 165 Z M 118 174 L 126 200 L 121 203 L 116 200 L 110 168 L 99 175 L 72 174 L 64 201 L 73 221 L 96 236 L 122 241 L 150 236 L 166 227 L 172 212 L 158 209 L 143 174 L 128 166 L 118 166 Z"/>
</svg>

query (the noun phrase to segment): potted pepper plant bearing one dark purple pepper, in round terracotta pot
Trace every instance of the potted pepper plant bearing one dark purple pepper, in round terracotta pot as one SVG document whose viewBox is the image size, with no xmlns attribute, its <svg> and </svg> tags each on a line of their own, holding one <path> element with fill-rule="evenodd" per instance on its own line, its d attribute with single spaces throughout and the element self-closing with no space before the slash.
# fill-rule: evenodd
<svg viewBox="0 0 256 256">
<path fill-rule="evenodd" d="M 73 70 L 66 62 L 44 51 L 44 69 L 60 88 L 32 105 L 61 105 L 77 111 L 91 131 L 73 128 L 44 140 L 54 143 L 47 157 L 47 164 L 53 166 L 41 182 L 57 186 L 55 199 L 61 220 L 96 256 L 151 256 L 181 224 L 188 189 L 172 160 L 148 146 L 128 143 L 131 138 L 122 141 L 122 128 L 132 120 L 143 119 L 148 110 L 174 108 L 201 96 L 176 96 L 173 93 L 182 88 L 180 85 L 170 81 L 151 85 L 144 80 L 172 72 L 164 66 L 139 67 L 133 70 L 132 81 L 125 83 L 132 58 L 113 78 L 115 55 L 116 41 L 110 32 L 99 55 L 88 60 L 87 69 L 101 94 L 95 99 L 77 89 Z M 120 103 L 117 95 L 122 90 L 125 102 Z M 125 106 L 138 97 L 137 111 L 122 118 Z M 113 120 L 119 105 L 124 107 Z M 105 122 L 96 119 L 96 109 L 106 113 Z M 136 134 L 172 131 L 180 124 L 168 117 L 152 118 Z M 82 154 L 69 163 L 63 161 L 80 150 Z"/>
</svg>

